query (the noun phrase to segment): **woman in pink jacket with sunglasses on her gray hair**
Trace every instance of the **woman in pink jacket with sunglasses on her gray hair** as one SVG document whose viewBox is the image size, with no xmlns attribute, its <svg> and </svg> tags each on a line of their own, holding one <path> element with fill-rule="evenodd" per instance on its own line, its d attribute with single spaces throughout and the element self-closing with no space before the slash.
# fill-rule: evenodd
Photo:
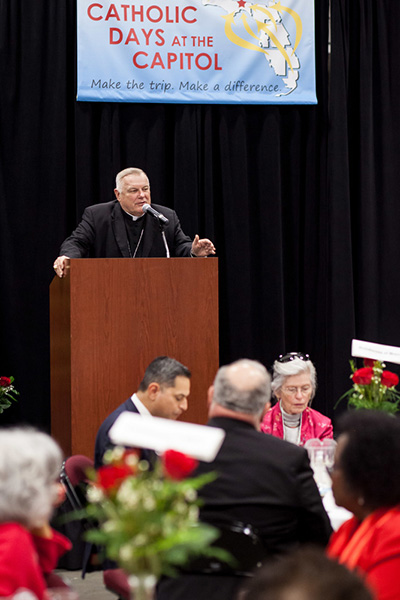
<svg viewBox="0 0 400 600">
<path fill-rule="evenodd" d="M 332 422 L 310 408 L 317 374 L 308 354 L 289 352 L 274 362 L 272 394 L 277 403 L 265 414 L 261 431 L 304 446 L 307 440 L 332 438 Z"/>
</svg>

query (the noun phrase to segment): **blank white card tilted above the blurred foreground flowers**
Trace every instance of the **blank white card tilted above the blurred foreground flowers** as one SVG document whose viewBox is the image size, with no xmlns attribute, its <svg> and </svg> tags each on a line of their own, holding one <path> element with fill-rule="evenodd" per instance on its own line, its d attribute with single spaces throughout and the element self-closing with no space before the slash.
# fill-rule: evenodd
<svg viewBox="0 0 400 600">
<path fill-rule="evenodd" d="M 115 421 L 108 435 L 114 444 L 120 446 L 149 448 L 156 452 L 176 450 L 211 462 L 224 441 L 225 431 L 218 427 L 125 411 Z"/>
</svg>

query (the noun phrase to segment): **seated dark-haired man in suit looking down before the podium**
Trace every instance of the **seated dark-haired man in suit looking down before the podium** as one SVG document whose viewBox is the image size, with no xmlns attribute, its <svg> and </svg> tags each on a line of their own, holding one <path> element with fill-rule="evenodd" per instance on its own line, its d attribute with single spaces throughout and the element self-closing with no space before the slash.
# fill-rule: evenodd
<svg viewBox="0 0 400 600">
<path fill-rule="evenodd" d="M 159 356 L 147 367 L 138 391 L 116 408 L 100 425 L 94 452 L 96 469 L 103 463 L 105 452 L 112 448 L 108 432 L 119 415 L 128 410 L 141 415 L 177 419 L 187 410 L 190 393 L 190 371 L 174 358 Z M 142 458 L 152 462 L 152 453 L 142 450 Z"/>
</svg>

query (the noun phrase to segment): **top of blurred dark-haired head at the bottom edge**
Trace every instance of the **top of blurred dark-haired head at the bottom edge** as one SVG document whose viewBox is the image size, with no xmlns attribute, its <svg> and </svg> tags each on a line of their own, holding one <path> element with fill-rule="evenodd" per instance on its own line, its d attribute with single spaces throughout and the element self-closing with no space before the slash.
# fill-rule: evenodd
<svg viewBox="0 0 400 600">
<path fill-rule="evenodd" d="M 265 564 L 237 600 L 373 600 L 361 578 L 316 548 Z"/>
</svg>

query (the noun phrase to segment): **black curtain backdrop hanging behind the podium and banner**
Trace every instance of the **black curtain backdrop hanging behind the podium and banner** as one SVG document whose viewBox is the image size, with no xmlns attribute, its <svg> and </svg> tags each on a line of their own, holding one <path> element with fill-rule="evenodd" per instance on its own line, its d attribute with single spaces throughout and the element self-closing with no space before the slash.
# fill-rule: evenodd
<svg viewBox="0 0 400 600">
<path fill-rule="evenodd" d="M 0 0 L 1 423 L 49 426 L 52 264 L 126 166 L 215 242 L 221 363 L 309 352 L 334 417 L 351 339 L 400 345 L 400 3 L 332 0 L 330 71 L 315 4 L 318 105 L 213 106 L 78 103 L 75 1 Z"/>
</svg>

